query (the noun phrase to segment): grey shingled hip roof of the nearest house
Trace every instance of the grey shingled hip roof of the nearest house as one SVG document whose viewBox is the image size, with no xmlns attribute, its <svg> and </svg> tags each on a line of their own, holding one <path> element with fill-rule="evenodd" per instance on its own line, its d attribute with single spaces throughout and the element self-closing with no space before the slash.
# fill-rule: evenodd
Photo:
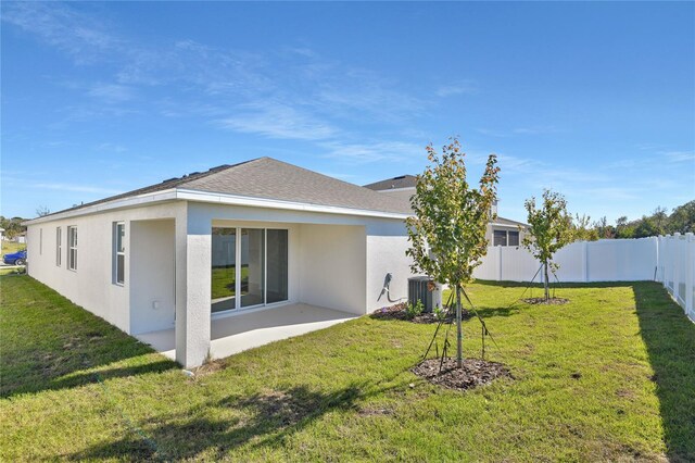
<svg viewBox="0 0 695 463">
<path fill-rule="evenodd" d="M 85 203 L 54 214 L 165 190 L 194 190 L 313 205 L 410 214 L 409 204 L 357 185 L 342 182 L 271 158 L 194 172 L 160 184 Z M 50 214 L 53 215 L 53 214 Z"/>
</svg>

